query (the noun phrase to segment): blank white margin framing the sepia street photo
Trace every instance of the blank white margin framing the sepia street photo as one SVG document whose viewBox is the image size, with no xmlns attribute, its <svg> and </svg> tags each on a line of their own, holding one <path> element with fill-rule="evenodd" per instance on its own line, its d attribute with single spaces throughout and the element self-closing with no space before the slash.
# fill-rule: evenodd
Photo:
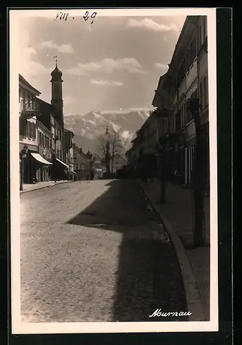
<svg viewBox="0 0 242 345">
<path fill-rule="evenodd" d="M 210 321 L 209 322 L 21 322 L 20 293 L 20 195 L 19 195 L 19 42 L 21 17 L 56 16 L 57 10 L 10 10 L 10 244 L 12 334 L 52 333 L 163 333 L 218 331 L 218 233 L 216 141 L 216 8 L 97 9 L 99 16 L 208 16 L 208 79 L 210 125 Z M 87 10 L 87 9 L 83 9 Z M 83 10 L 71 10 L 75 17 Z M 157 75 L 157 77 L 159 77 Z"/>
</svg>

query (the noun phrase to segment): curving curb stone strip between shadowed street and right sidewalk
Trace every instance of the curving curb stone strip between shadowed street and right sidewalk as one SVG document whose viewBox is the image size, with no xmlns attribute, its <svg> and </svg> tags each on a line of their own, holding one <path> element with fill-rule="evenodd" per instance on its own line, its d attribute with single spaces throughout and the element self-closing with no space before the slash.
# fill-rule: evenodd
<svg viewBox="0 0 242 345">
<path fill-rule="evenodd" d="M 192 315 L 189 316 L 189 321 L 192 321 L 192 322 L 205 321 L 199 288 L 197 287 L 196 280 L 192 273 L 192 266 L 188 259 L 188 255 L 185 253 L 185 249 L 183 247 L 183 244 L 181 243 L 181 239 L 179 239 L 177 234 L 174 232 L 172 228 L 172 224 L 170 224 L 170 221 L 168 221 L 168 219 L 165 218 L 165 216 L 161 213 L 159 208 L 154 204 L 154 202 L 152 201 L 152 199 L 150 198 L 148 193 L 145 191 L 145 188 L 143 188 L 140 182 L 139 182 L 139 186 L 141 190 L 143 191 L 143 194 L 145 195 L 145 197 L 150 202 L 150 205 L 152 206 L 154 212 L 157 214 L 159 219 L 161 219 L 161 222 L 163 223 L 165 230 L 168 231 L 168 234 L 170 235 L 170 239 L 177 252 L 177 257 L 178 257 L 180 268 L 181 268 L 181 275 L 183 277 L 183 284 L 184 284 L 185 296 L 186 296 L 186 300 L 188 304 L 188 311 L 192 313 Z"/>
</svg>

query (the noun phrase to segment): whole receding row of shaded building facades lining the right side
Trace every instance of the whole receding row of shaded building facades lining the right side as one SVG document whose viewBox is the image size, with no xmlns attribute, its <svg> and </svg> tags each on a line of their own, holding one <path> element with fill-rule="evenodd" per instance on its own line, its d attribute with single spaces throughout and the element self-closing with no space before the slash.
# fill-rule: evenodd
<svg viewBox="0 0 242 345">
<path fill-rule="evenodd" d="M 181 184 L 192 184 L 196 132 L 190 99 L 199 97 L 203 132 L 203 176 L 209 189 L 208 33 L 205 16 L 188 16 L 177 41 L 168 72 L 161 76 L 152 105 L 155 110 L 137 132 L 127 152 L 133 165 L 145 154 L 159 157 L 165 147 L 168 177 L 177 171 Z M 157 153 L 156 153 L 157 152 Z M 159 161 L 159 159 L 157 159 Z"/>
</svg>

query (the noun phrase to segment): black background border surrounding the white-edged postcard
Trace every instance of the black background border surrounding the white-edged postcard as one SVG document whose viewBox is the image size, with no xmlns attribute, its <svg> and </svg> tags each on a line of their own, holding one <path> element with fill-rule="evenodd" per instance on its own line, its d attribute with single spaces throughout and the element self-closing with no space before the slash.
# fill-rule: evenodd
<svg viewBox="0 0 242 345">
<path fill-rule="evenodd" d="M 52 2 L 52 7 L 61 2 Z M 68 6 L 86 7 L 86 1 L 68 1 Z M 92 2 L 92 1 L 90 1 Z M 92 4 L 88 8 L 100 6 Z M 34 3 L 37 6 L 36 3 Z M 105 8 L 128 8 L 110 3 Z M 165 6 L 164 3 L 162 3 Z M 17 6 L 17 4 L 14 4 Z M 49 4 L 50 6 L 50 4 Z M 152 6 L 154 8 L 156 6 Z M 166 6 L 168 7 L 168 6 Z M 193 7 L 193 6 L 191 6 Z M 217 32 L 217 152 L 218 152 L 218 211 L 219 211 L 219 331 L 191 333 L 108 333 L 108 334 L 51 334 L 11 335 L 10 315 L 10 137 L 9 137 L 9 61 L 8 11 L 16 7 L 3 7 L 0 12 L 1 34 L 1 91 L 0 91 L 0 343 L 28 344 L 232 344 L 232 8 L 216 10 Z M 24 9 L 27 7 L 21 7 Z M 35 7 L 37 8 L 37 7 Z M 39 5 L 39 8 L 43 8 Z M 172 8 L 169 6 L 169 8 Z M 3 158 L 4 157 L 4 158 Z M 230 201 L 231 200 L 231 201 Z"/>
</svg>

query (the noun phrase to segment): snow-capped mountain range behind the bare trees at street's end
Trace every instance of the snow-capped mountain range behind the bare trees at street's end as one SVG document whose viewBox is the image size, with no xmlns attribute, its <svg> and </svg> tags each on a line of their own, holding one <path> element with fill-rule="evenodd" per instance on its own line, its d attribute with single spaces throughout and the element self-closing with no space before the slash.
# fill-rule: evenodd
<svg viewBox="0 0 242 345">
<path fill-rule="evenodd" d="M 65 116 L 65 128 L 74 132 L 74 143 L 84 152 L 97 151 L 97 139 L 105 134 L 108 126 L 119 132 L 125 150 L 130 148 L 130 141 L 150 116 L 148 108 L 129 108 L 121 110 L 91 111 L 85 115 Z"/>
</svg>

